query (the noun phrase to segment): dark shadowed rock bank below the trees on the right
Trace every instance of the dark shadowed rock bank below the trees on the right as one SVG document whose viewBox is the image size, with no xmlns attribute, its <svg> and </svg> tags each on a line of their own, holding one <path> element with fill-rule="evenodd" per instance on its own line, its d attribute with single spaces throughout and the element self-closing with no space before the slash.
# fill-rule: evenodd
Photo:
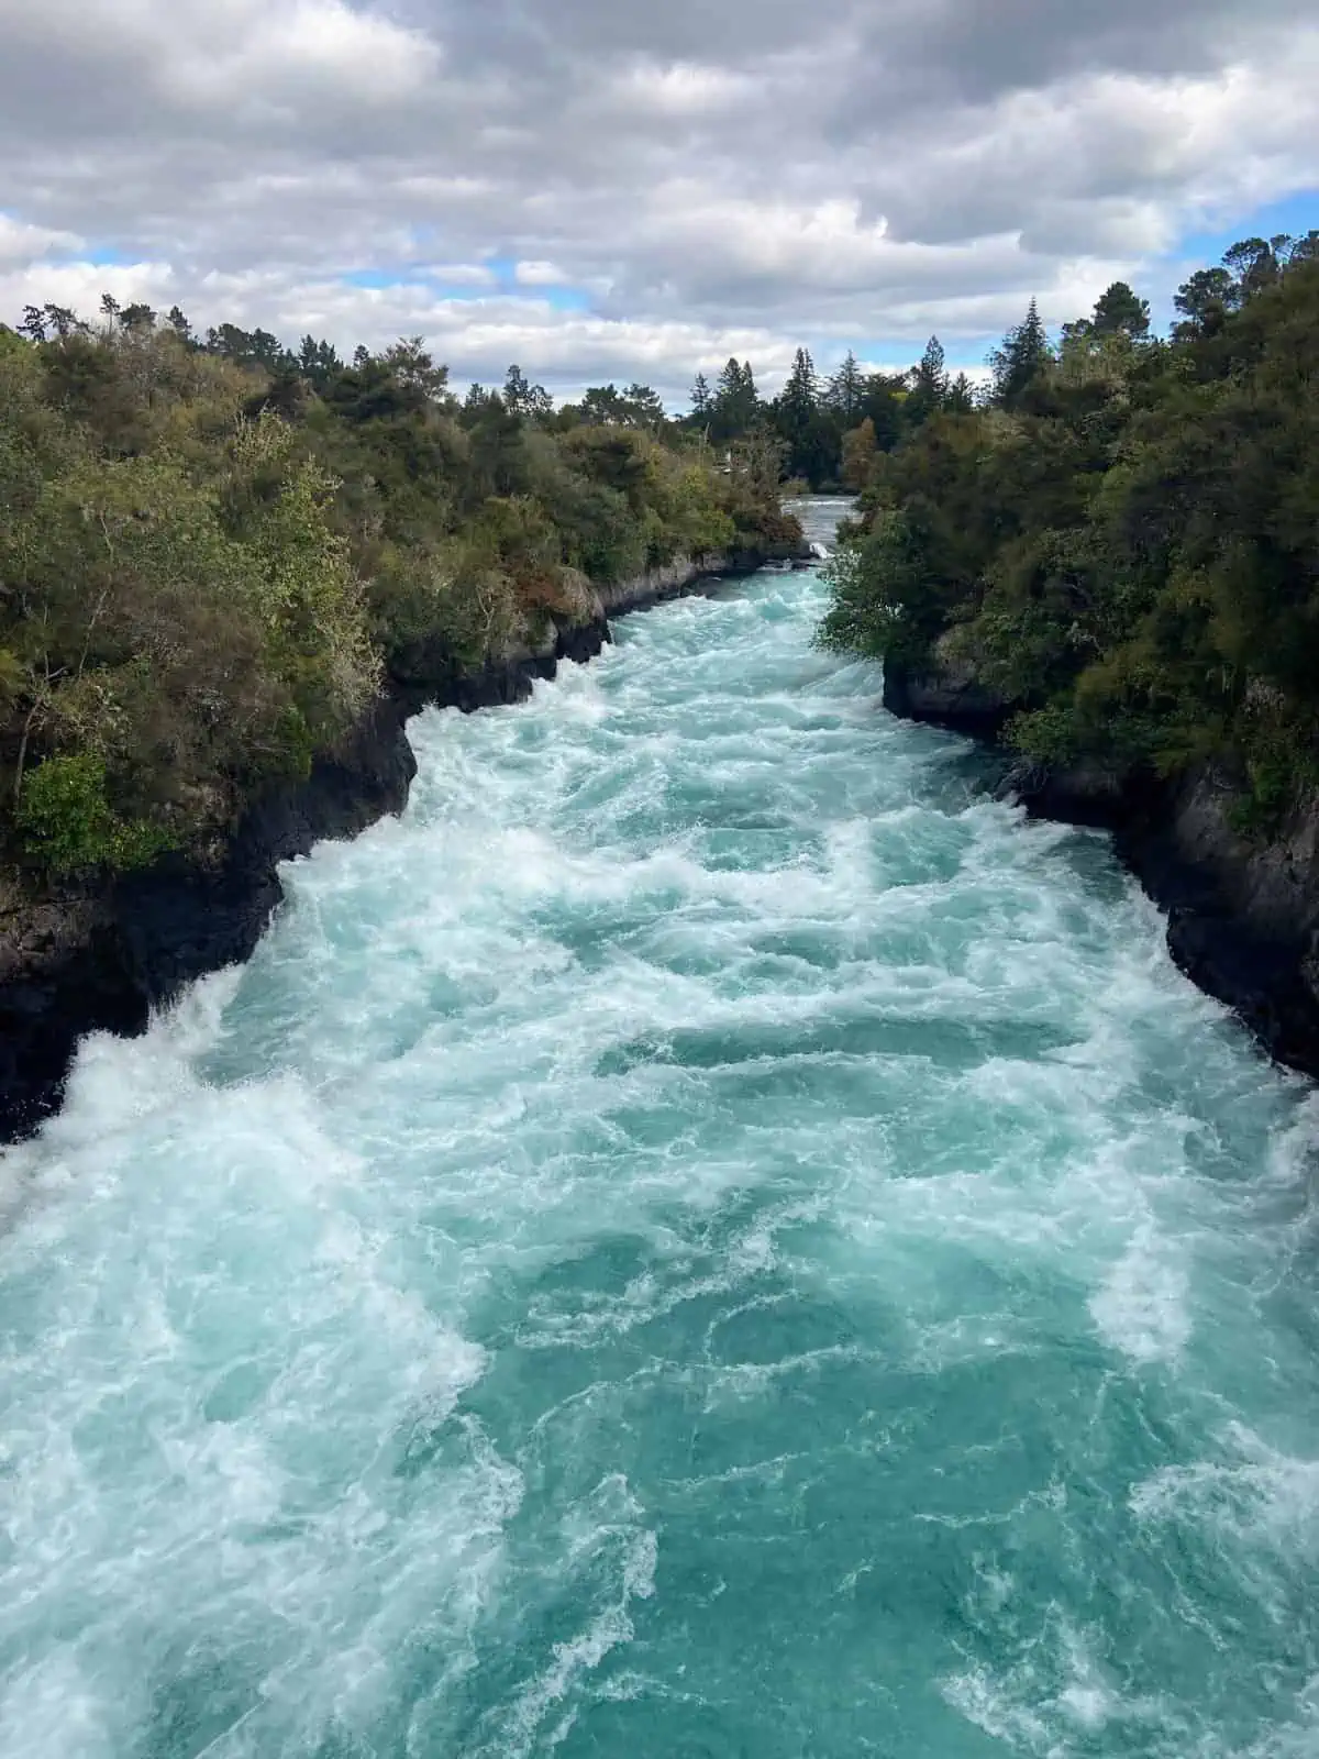
<svg viewBox="0 0 1319 1759">
<path fill-rule="evenodd" d="M 885 707 L 994 748 L 1011 704 L 971 674 L 885 665 Z M 999 793 L 1036 818 L 1113 834 L 1168 916 L 1168 950 L 1272 1057 L 1319 1077 L 1319 807 L 1249 827 L 1247 793 L 1213 765 L 1175 779 L 1097 767 L 1006 767 Z"/>
</svg>

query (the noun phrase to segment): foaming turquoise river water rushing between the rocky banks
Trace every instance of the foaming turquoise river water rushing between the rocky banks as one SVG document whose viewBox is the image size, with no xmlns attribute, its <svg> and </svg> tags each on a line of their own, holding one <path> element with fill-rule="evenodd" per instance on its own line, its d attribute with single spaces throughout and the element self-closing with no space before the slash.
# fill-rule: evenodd
<svg viewBox="0 0 1319 1759">
<path fill-rule="evenodd" d="M 1319 1752 L 1310 1091 L 821 600 L 422 716 L 84 1047 L 0 1168 L 5 1759 Z"/>
</svg>

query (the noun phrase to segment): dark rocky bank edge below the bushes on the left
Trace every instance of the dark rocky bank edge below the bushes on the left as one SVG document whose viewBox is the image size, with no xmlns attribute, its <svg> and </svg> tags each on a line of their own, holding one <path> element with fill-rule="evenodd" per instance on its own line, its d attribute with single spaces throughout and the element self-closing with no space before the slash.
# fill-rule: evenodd
<svg viewBox="0 0 1319 1759">
<path fill-rule="evenodd" d="M 304 781 L 262 792 L 202 857 L 165 857 L 104 887 L 42 899 L 0 895 L 0 1142 L 58 1110 L 77 1041 L 142 1033 L 193 980 L 246 960 L 283 899 L 280 864 L 401 813 L 417 772 L 406 721 L 424 707 L 463 712 L 524 700 L 563 660 L 593 660 L 610 619 L 705 582 L 756 572 L 758 551 L 679 558 L 593 588 L 575 621 L 550 616 L 535 647 L 464 670 L 436 647 L 406 656 L 350 739 Z"/>
</svg>

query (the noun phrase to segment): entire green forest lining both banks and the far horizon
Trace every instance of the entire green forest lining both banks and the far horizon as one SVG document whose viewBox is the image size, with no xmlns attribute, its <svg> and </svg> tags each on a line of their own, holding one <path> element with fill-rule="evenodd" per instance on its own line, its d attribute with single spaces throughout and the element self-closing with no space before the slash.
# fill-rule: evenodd
<svg viewBox="0 0 1319 1759">
<path fill-rule="evenodd" d="M 0 858 L 128 867 L 223 830 L 419 649 L 478 668 L 679 554 L 786 554 L 784 478 L 860 491 L 821 639 L 957 663 L 1043 762 L 1319 781 L 1319 234 L 1247 239 L 1150 331 L 1124 283 L 992 387 L 798 350 L 689 413 L 647 385 L 459 399 L 420 339 L 339 359 L 176 308 L 0 325 Z"/>
</svg>

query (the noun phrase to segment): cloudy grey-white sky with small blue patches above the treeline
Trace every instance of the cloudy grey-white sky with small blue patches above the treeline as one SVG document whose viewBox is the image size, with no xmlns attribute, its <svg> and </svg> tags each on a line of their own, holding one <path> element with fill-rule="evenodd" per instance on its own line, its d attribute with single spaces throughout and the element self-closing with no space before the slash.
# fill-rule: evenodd
<svg viewBox="0 0 1319 1759">
<path fill-rule="evenodd" d="M 672 406 L 980 366 L 1319 225 L 1314 0 L 0 0 L 0 320 L 100 292 Z"/>
</svg>

